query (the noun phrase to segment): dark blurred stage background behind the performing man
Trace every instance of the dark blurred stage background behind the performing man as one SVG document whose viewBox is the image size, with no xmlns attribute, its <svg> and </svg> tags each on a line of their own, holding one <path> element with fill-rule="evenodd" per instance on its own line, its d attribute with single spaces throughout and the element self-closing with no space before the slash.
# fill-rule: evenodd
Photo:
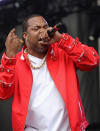
<svg viewBox="0 0 100 131">
<path fill-rule="evenodd" d="M 0 58 L 5 51 L 5 40 L 9 31 L 15 27 L 16 34 L 22 37 L 22 21 L 31 14 L 43 15 L 50 25 L 63 23 L 61 32 L 79 37 L 83 44 L 100 52 L 99 0 L 4 0 L 0 1 Z M 88 130 L 100 131 L 99 109 L 99 66 L 91 72 L 77 71 L 80 81 L 80 94 L 86 118 L 90 123 Z M 12 98 L 0 101 L 0 131 L 11 131 Z"/>
</svg>

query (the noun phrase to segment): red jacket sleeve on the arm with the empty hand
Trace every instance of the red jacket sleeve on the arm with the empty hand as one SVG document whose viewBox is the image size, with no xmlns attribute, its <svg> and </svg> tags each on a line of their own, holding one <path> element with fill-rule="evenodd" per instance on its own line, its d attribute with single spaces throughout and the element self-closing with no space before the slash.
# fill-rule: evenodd
<svg viewBox="0 0 100 131">
<path fill-rule="evenodd" d="M 0 64 L 0 99 L 6 100 L 14 92 L 14 69 L 16 58 L 8 58 L 4 53 Z"/>
</svg>

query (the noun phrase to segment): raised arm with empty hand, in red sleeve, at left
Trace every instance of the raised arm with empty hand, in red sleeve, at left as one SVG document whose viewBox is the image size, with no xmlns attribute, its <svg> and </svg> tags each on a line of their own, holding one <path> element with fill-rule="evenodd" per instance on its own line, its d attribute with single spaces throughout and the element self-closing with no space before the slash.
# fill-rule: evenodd
<svg viewBox="0 0 100 131">
<path fill-rule="evenodd" d="M 16 65 L 16 54 L 22 41 L 15 35 L 15 29 L 8 34 L 5 42 L 6 52 L 1 58 L 0 64 L 0 99 L 6 100 L 14 92 L 14 76 Z"/>
</svg>

